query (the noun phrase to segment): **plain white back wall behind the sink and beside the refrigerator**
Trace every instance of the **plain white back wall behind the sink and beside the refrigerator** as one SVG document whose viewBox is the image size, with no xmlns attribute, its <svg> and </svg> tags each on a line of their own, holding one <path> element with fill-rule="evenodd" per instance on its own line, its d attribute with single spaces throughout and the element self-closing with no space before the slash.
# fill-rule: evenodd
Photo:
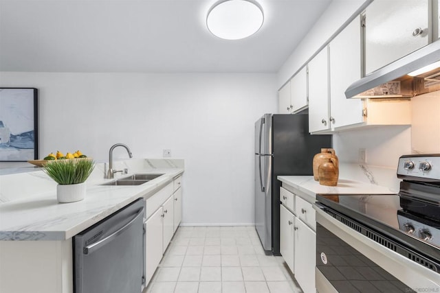
<svg viewBox="0 0 440 293">
<path fill-rule="evenodd" d="M 169 148 L 185 160 L 184 223 L 254 222 L 254 121 L 276 110 L 275 74 L 3 72 L 0 86 L 39 89 L 40 157 Z"/>
</svg>

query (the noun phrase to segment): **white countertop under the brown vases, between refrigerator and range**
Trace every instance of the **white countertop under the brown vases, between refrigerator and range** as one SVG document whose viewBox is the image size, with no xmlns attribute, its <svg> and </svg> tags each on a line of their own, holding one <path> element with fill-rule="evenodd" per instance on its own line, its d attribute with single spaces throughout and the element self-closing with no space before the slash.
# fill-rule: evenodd
<svg viewBox="0 0 440 293">
<path fill-rule="evenodd" d="M 339 178 L 337 186 L 320 185 L 314 176 L 278 176 L 278 180 L 294 187 L 311 198 L 316 194 L 397 194 L 396 190 L 372 183 Z"/>
</svg>

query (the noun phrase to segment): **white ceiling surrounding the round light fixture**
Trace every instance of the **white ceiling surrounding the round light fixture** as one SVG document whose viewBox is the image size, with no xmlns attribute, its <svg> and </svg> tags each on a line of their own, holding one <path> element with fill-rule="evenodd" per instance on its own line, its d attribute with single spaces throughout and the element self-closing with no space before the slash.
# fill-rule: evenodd
<svg viewBox="0 0 440 293">
<path fill-rule="evenodd" d="M 217 0 L 0 0 L 0 71 L 276 72 L 331 0 L 260 0 L 243 40 L 206 28 Z"/>
</svg>

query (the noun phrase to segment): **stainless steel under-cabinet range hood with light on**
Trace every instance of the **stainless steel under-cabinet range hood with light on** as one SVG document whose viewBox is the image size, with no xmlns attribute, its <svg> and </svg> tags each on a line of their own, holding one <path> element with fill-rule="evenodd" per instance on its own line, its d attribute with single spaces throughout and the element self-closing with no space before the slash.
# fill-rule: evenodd
<svg viewBox="0 0 440 293">
<path fill-rule="evenodd" d="M 347 99 L 398 98 L 414 97 L 415 95 L 438 91 L 440 89 L 440 64 L 436 66 L 434 63 L 439 60 L 440 40 L 353 82 L 345 91 L 345 96 Z M 428 69 L 432 65 L 437 68 Z M 424 72 L 416 72 L 419 69 L 425 69 L 425 67 Z"/>
</svg>

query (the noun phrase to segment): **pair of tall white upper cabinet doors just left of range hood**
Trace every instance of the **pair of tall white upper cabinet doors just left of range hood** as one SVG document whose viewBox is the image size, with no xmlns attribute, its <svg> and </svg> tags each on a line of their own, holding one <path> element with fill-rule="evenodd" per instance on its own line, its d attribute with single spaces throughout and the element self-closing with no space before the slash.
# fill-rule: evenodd
<svg viewBox="0 0 440 293">
<path fill-rule="evenodd" d="M 347 87 L 361 77 L 360 18 L 309 62 L 309 131 L 364 122 L 362 99 L 347 99 Z"/>
</svg>

